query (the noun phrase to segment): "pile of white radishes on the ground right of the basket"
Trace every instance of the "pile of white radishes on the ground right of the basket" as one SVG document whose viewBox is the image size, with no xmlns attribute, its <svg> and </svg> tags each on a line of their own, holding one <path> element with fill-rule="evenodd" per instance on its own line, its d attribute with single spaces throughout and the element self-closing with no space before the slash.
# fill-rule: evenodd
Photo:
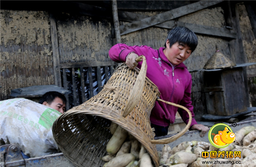
<svg viewBox="0 0 256 167">
<path fill-rule="evenodd" d="M 212 144 L 204 141 L 184 141 L 170 148 L 164 145 L 159 153 L 159 167 L 231 167 L 231 166 L 256 166 L 256 127 L 247 126 L 235 133 L 236 140 L 225 148 L 216 148 Z M 202 152 L 210 151 L 241 151 L 241 158 L 204 158 Z M 219 161 L 214 164 L 206 164 L 203 161 Z M 221 162 L 221 161 L 241 161 L 241 164 Z"/>
</svg>

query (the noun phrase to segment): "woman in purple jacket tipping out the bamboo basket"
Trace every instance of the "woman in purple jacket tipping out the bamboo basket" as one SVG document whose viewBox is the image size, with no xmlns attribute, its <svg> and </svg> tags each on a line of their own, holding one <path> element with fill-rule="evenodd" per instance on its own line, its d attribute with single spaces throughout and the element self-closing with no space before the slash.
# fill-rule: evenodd
<svg viewBox="0 0 256 167">
<path fill-rule="evenodd" d="M 126 62 L 130 69 L 134 69 L 135 66 L 141 68 L 142 62 L 137 63 L 135 59 L 138 55 L 144 55 L 147 59 L 147 77 L 158 86 L 160 99 L 187 107 L 193 117 L 190 129 L 199 130 L 200 135 L 204 136 L 209 128 L 196 123 L 191 102 L 192 77 L 187 66 L 183 64 L 196 49 L 197 43 L 197 36 L 191 30 L 176 27 L 169 32 L 165 48 L 155 50 L 146 45 L 116 44 L 109 50 L 109 56 L 113 61 Z M 155 102 L 150 122 L 151 127 L 155 128 L 156 136 L 167 135 L 168 127 L 170 123 L 174 123 L 177 111 L 187 124 L 187 111 L 164 102 Z"/>
</svg>

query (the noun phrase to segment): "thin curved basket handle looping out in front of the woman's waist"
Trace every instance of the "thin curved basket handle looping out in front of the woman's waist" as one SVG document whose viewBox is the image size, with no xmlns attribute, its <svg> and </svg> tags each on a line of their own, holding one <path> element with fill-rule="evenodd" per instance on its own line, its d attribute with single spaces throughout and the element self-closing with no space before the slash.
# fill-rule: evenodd
<svg viewBox="0 0 256 167">
<path fill-rule="evenodd" d="M 167 103 L 168 105 L 172 105 L 172 106 L 176 106 L 176 107 L 182 108 L 183 110 L 187 111 L 188 115 L 189 115 L 188 124 L 187 124 L 187 126 L 181 132 L 177 133 L 174 136 L 168 137 L 166 139 L 150 140 L 152 144 L 168 144 L 168 143 L 171 143 L 172 141 L 175 141 L 175 140 L 179 139 L 179 137 L 181 137 L 182 135 L 184 135 L 185 132 L 188 131 L 188 129 L 189 129 L 190 125 L 191 125 L 191 122 L 192 122 L 192 115 L 191 115 L 191 112 L 188 110 L 188 108 L 186 108 L 184 106 L 177 105 L 177 104 L 172 103 L 172 102 L 167 102 L 167 101 L 164 101 L 163 99 L 159 99 L 159 98 L 158 98 L 158 101 Z"/>
</svg>

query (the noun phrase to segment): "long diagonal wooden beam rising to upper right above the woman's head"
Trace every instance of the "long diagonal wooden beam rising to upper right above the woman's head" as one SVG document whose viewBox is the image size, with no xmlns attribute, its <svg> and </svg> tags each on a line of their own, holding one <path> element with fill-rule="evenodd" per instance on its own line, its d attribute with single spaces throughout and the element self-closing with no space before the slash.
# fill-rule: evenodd
<svg viewBox="0 0 256 167">
<path fill-rule="evenodd" d="M 174 10 L 163 12 L 162 14 L 154 15 L 142 20 L 137 20 L 135 22 L 122 25 L 120 26 L 120 32 L 121 32 L 121 35 L 129 34 L 130 32 L 142 30 L 143 28 L 151 27 L 156 24 L 166 22 L 168 20 L 179 18 L 180 16 L 205 9 L 209 6 L 216 5 L 220 2 L 223 2 L 223 0 L 222 1 L 199 1 L 199 2 L 192 3 L 190 5 L 178 7 Z"/>
</svg>

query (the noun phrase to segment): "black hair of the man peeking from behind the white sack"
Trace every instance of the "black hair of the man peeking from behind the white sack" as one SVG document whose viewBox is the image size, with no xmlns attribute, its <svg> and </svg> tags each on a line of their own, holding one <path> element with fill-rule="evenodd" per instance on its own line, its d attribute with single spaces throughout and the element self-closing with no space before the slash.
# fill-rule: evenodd
<svg viewBox="0 0 256 167">
<path fill-rule="evenodd" d="M 49 105 L 51 105 L 51 103 L 54 101 L 54 99 L 58 97 L 60 98 L 63 103 L 65 104 L 67 99 L 65 98 L 65 96 L 57 91 L 48 91 L 47 93 L 45 93 L 43 95 L 42 98 L 40 98 L 39 103 L 43 104 L 43 102 L 47 102 Z"/>
</svg>

